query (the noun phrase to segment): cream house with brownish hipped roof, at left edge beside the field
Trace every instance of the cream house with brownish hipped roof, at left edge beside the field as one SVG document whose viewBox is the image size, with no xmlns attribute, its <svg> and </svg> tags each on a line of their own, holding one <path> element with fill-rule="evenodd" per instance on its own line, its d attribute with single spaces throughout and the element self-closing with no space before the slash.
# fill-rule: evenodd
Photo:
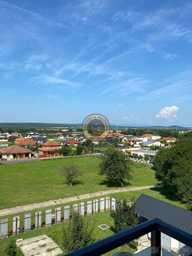
<svg viewBox="0 0 192 256">
<path fill-rule="evenodd" d="M 18 145 L 13 145 L 11 147 L 5 147 L 0 150 L 0 158 L 11 160 L 11 159 L 24 159 L 31 157 L 31 150 Z"/>
</svg>

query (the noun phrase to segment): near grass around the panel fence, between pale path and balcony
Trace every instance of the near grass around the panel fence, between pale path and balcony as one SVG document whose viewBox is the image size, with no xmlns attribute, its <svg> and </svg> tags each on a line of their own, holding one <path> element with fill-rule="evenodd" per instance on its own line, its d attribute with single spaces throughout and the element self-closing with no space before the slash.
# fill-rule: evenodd
<svg viewBox="0 0 192 256">
<path fill-rule="evenodd" d="M 168 191 L 166 191 L 163 188 L 154 188 L 154 189 L 145 189 L 145 190 L 141 190 L 141 191 L 132 191 L 132 192 L 121 192 L 121 193 L 114 193 L 111 194 L 109 196 L 114 197 L 115 199 L 126 199 L 129 202 L 132 200 L 133 197 L 135 197 L 135 199 L 137 199 L 141 193 L 150 195 L 154 198 L 157 198 L 159 200 L 164 200 L 168 203 L 174 204 L 175 206 L 178 207 L 184 207 L 185 205 L 181 204 L 179 201 L 176 201 L 173 199 L 173 197 L 170 195 L 170 193 Z M 98 199 L 98 197 L 97 197 Z M 93 199 L 92 199 L 93 200 Z M 84 200 L 86 202 L 86 200 Z M 80 202 L 80 201 L 78 201 Z M 71 202 L 65 205 L 72 205 L 75 202 Z M 33 218 L 32 218 L 32 224 L 34 223 L 34 213 L 41 210 L 42 211 L 42 222 L 45 221 L 45 210 L 48 208 L 52 208 L 53 211 L 55 209 L 55 207 L 47 207 L 47 208 L 41 208 L 41 209 L 36 209 L 33 211 L 30 211 L 28 213 L 31 213 Z M 58 207 L 64 207 L 64 205 L 59 205 Z M 23 228 L 23 223 L 24 223 L 24 214 L 26 213 L 21 213 L 18 214 L 20 216 L 20 229 Z M 12 228 L 12 217 L 15 215 L 10 215 L 8 216 L 8 220 L 9 220 L 9 230 L 11 230 Z M 0 219 L 3 219 L 4 217 L 1 217 Z M 91 225 L 95 226 L 95 229 L 93 231 L 93 239 L 94 241 L 100 240 L 102 238 L 111 236 L 114 234 L 113 229 L 111 229 L 111 227 L 114 226 L 114 221 L 113 219 L 110 217 L 109 212 L 105 212 L 105 213 L 100 213 L 100 214 L 96 214 L 96 215 L 90 215 L 90 216 L 85 216 L 85 220 L 86 222 L 90 222 Z M 109 229 L 107 230 L 100 230 L 98 227 L 100 224 L 106 223 L 107 226 L 109 226 Z M 12 236 L 9 238 L 2 238 L 0 239 L 0 248 L 1 248 L 1 252 L 4 252 L 2 255 L 7 255 L 6 254 L 6 250 L 7 247 L 10 245 L 11 240 L 16 240 L 19 237 L 22 237 L 23 239 L 25 238 L 29 238 L 29 237 L 35 237 L 35 236 L 40 236 L 42 234 L 47 234 L 48 237 L 52 237 L 53 240 L 55 241 L 55 243 L 57 245 L 59 245 L 61 247 L 61 249 L 63 249 L 63 243 L 62 243 L 62 229 L 63 229 L 63 225 L 65 225 L 66 222 L 62 222 L 60 224 L 56 224 L 53 225 L 51 227 L 43 227 L 39 230 L 32 230 L 32 231 L 28 231 L 26 233 L 20 233 L 17 236 Z M 126 247 L 126 246 L 125 246 Z M 126 251 L 128 249 L 128 247 L 121 247 L 119 249 L 115 249 L 113 252 L 120 252 L 120 251 Z M 131 251 L 129 251 L 131 252 Z M 0 254 L 1 255 L 1 254 Z M 108 252 L 107 255 L 112 255 L 112 252 Z"/>
</svg>

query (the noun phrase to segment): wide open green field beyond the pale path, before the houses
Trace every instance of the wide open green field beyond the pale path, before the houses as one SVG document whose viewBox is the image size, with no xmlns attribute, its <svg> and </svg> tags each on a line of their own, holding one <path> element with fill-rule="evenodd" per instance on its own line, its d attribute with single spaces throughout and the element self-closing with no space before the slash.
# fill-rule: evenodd
<svg viewBox="0 0 192 256">
<path fill-rule="evenodd" d="M 76 163 L 83 172 L 72 187 L 59 175 L 61 167 L 70 162 Z M 2 164 L 0 209 L 117 188 L 108 184 L 105 177 L 100 177 L 99 164 L 100 157 L 97 156 Z M 151 168 L 133 164 L 133 171 L 133 179 L 125 186 L 157 184 Z"/>
</svg>

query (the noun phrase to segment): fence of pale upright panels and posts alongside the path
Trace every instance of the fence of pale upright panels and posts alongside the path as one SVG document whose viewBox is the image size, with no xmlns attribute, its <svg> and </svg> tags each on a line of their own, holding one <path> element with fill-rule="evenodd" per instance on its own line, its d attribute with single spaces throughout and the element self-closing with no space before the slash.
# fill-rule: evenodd
<svg viewBox="0 0 192 256">
<path fill-rule="evenodd" d="M 116 200 L 106 197 L 87 202 L 80 202 L 72 206 L 56 207 L 55 209 L 46 209 L 34 214 L 26 214 L 23 217 L 14 216 L 0 221 L 0 237 L 17 235 L 27 230 L 40 229 L 43 226 L 50 226 L 60 222 L 70 220 L 73 212 L 79 215 L 92 215 L 104 211 L 115 210 Z"/>
</svg>

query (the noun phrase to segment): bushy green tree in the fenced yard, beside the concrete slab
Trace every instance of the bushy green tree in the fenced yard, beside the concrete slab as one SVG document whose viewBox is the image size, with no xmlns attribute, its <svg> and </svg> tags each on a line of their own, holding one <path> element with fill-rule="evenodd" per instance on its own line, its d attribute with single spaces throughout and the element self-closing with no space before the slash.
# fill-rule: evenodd
<svg viewBox="0 0 192 256">
<path fill-rule="evenodd" d="M 63 229 L 63 247 L 67 252 L 76 251 L 92 243 L 93 226 L 85 223 L 83 217 L 74 212 L 72 219 Z"/>
</svg>

